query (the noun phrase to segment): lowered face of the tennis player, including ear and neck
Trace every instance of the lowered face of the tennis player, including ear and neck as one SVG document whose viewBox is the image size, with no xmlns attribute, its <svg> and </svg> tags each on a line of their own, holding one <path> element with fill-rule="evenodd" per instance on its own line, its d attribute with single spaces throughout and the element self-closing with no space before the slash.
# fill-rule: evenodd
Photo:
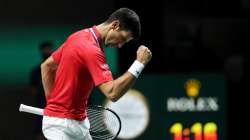
<svg viewBox="0 0 250 140">
<path fill-rule="evenodd" d="M 105 46 L 107 47 L 117 47 L 121 48 L 125 43 L 132 40 L 132 35 L 130 31 L 119 30 L 118 28 L 111 29 L 106 38 Z"/>
</svg>

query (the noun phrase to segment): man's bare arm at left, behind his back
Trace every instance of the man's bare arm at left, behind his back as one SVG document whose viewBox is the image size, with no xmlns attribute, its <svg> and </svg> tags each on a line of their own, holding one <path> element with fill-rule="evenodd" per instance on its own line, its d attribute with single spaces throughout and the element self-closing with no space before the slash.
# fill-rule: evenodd
<svg viewBox="0 0 250 140">
<path fill-rule="evenodd" d="M 46 96 L 49 96 L 55 81 L 56 70 L 47 65 L 41 65 L 42 83 Z"/>
</svg>

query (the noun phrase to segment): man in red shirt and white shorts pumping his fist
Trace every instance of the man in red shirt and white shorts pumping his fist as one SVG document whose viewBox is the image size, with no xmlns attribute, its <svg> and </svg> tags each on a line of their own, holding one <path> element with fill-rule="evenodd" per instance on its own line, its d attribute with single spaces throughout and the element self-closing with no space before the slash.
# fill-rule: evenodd
<svg viewBox="0 0 250 140">
<path fill-rule="evenodd" d="M 98 87 L 111 101 L 117 101 L 152 57 L 147 47 L 140 46 L 128 71 L 113 79 L 102 46 L 121 48 L 137 39 L 140 32 L 138 15 L 120 8 L 102 24 L 70 35 L 41 65 L 47 100 L 43 133 L 47 139 L 91 140 L 86 107 L 93 87 Z"/>
</svg>

